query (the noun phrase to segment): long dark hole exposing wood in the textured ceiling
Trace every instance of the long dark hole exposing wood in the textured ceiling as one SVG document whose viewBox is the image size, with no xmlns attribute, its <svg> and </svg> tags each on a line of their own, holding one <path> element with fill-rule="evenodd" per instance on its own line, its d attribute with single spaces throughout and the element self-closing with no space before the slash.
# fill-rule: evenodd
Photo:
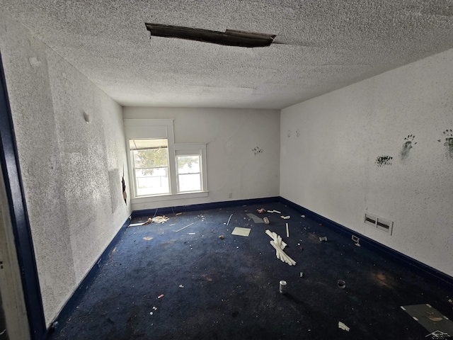
<svg viewBox="0 0 453 340">
<path fill-rule="evenodd" d="M 238 47 L 266 47 L 272 44 L 276 36 L 273 34 L 245 32 L 242 30 L 218 32 L 216 30 L 161 25 L 159 23 L 145 23 L 145 25 L 151 35 L 156 37 L 196 40 Z"/>
</svg>

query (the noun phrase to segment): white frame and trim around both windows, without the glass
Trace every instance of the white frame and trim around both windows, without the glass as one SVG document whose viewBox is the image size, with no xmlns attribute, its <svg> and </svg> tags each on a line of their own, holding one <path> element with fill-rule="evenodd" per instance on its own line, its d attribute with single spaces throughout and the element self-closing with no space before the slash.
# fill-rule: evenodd
<svg viewBox="0 0 453 340">
<path fill-rule="evenodd" d="M 207 170 L 206 170 L 206 145 L 205 144 L 175 144 L 173 132 L 173 119 L 124 119 L 125 140 L 127 147 L 127 164 L 132 203 L 148 203 L 159 200 L 175 200 L 180 198 L 207 197 Z M 137 196 L 135 188 L 135 175 L 129 147 L 129 140 L 166 138 L 168 142 L 168 167 L 170 176 L 170 193 L 152 196 Z M 200 154 L 200 171 L 202 171 L 202 190 L 195 192 L 178 193 L 178 174 L 176 170 L 176 152 L 178 156 L 185 154 Z"/>
</svg>

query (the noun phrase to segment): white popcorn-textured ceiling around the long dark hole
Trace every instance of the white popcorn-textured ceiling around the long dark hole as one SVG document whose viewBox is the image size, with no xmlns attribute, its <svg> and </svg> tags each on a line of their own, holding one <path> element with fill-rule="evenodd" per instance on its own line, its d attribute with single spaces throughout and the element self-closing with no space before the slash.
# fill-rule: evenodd
<svg viewBox="0 0 453 340">
<path fill-rule="evenodd" d="M 123 106 L 285 108 L 453 47 L 453 0 L 0 0 Z M 151 37 L 144 23 L 277 35 Z"/>
</svg>

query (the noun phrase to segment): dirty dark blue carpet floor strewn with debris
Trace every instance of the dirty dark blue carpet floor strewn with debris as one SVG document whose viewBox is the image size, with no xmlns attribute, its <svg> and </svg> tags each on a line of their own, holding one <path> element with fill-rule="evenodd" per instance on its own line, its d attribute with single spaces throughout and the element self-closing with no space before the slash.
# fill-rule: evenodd
<svg viewBox="0 0 453 340">
<path fill-rule="evenodd" d="M 281 214 L 257 208 L 175 211 L 164 224 L 128 227 L 51 339 L 431 339 L 400 306 L 429 303 L 453 319 L 453 292 L 282 203 L 264 205 Z M 276 258 L 265 229 L 295 266 Z"/>
</svg>

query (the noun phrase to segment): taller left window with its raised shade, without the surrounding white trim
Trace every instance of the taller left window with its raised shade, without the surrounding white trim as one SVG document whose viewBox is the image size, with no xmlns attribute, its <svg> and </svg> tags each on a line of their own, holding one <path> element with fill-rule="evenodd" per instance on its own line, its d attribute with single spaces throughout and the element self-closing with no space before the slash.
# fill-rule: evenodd
<svg viewBox="0 0 453 340">
<path fill-rule="evenodd" d="M 170 193 L 168 141 L 129 140 L 137 196 Z"/>
</svg>

